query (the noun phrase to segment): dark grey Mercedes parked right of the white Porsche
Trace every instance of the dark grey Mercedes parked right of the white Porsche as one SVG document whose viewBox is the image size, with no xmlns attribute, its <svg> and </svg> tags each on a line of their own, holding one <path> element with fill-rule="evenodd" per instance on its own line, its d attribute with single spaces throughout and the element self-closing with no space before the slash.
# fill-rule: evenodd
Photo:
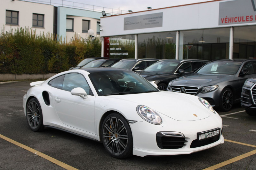
<svg viewBox="0 0 256 170">
<path fill-rule="evenodd" d="M 193 94 L 221 111 L 228 111 L 240 101 L 245 80 L 253 76 L 256 76 L 256 59 L 215 60 L 171 81 L 167 91 Z"/>
</svg>

